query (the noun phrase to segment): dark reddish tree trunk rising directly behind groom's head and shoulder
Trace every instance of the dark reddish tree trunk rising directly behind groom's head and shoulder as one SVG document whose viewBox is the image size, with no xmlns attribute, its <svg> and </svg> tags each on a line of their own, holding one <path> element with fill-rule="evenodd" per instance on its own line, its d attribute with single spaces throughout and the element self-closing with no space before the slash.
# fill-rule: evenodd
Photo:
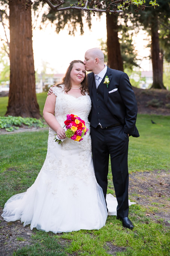
<svg viewBox="0 0 170 256">
<path fill-rule="evenodd" d="M 123 61 L 118 38 L 117 15 L 106 14 L 108 66 L 123 71 Z"/>
</svg>

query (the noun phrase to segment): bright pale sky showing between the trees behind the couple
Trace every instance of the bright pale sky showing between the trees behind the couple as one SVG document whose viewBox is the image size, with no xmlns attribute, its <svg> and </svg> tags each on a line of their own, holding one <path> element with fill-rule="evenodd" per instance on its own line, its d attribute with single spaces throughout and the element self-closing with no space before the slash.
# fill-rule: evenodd
<svg viewBox="0 0 170 256">
<path fill-rule="evenodd" d="M 47 27 L 33 29 L 33 52 L 35 61 L 35 70 L 38 73 L 42 70 L 42 63 L 46 62 L 48 73 L 65 73 L 69 63 L 74 59 L 84 60 L 86 50 L 99 47 L 99 40 L 107 40 L 106 16 L 103 14 L 101 19 L 92 18 L 91 30 L 84 20 L 84 34 L 80 35 L 79 29 L 75 32 L 75 36 L 68 35 L 68 30 L 65 28 L 59 34 L 56 33 L 55 27 L 48 24 Z M 0 33 L 3 36 L 3 29 L 0 27 Z M 7 32 L 9 34 L 9 32 Z M 4 37 L 5 38 L 5 37 Z M 147 35 L 144 31 L 140 31 L 137 37 L 134 37 L 135 49 L 141 57 L 149 55 L 147 45 Z M 140 66 L 144 71 L 150 70 L 148 60 L 142 61 Z M 51 69 L 53 71 L 51 71 Z"/>
</svg>

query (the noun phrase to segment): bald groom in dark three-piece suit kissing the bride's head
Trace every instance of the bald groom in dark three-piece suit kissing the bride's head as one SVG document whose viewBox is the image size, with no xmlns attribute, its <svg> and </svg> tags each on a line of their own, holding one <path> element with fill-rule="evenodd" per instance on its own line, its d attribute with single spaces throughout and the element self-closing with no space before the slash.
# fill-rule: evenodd
<svg viewBox="0 0 170 256">
<path fill-rule="evenodd" d="M 87 50 L 84 65 L 92 72 L 87 78 L 92 101 L 89 121 L 96 180 L 106 198 L 110 155 L 117 219 L 122 220 L 123 227 L 133 229 L 128 218 L 128 143 L 129 136 L 139 137 L 135 126 L 135 94 L 126 73 L 105 66 L 100 49 Z"/>
</svg>

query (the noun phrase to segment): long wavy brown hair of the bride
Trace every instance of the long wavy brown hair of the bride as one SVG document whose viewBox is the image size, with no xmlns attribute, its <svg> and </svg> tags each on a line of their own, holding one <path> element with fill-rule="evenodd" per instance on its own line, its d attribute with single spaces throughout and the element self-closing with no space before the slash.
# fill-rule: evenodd
<svg viewBox="0 0 170 256">
<path fill-rule="evenodd" d="M 64 85 L 65 88 L 64 90 L 66 91 L 66 93 L 68 93 L 68 91 L 71 90 L 71 79 L 70 79 L 70 73 L 71 73 L 71 70 L 72 70 L 72 67 L 74 65 L 74 63 L 81 63 L 84 65 L 83 61 L 80 61 L 80 60 L 75 60 L 75 61 L 72 61 L 70 62 L 70 65 L 65 73 L 65 76 L 63 77 L 63 80 L 60 84 L 57 84 L 57 87 L 61 87 L 60 85 Z M 85 95 L 85 93 L 89 93 L 89 90 L 88 90 L 88 85 L 87 85 L 87 77 L 85 75 L 84 77 L 84 80 L 81 82 L 81 94 Z"/>
</svg>

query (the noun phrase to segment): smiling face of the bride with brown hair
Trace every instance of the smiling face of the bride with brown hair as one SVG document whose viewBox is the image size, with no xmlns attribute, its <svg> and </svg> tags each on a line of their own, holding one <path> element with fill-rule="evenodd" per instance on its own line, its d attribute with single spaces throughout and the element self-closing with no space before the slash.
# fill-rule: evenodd
<svg viewBox="0 0 170 256">
<path fill-rule="evenodd" d="M 84 64 L 77 62 L 73 64 L 70 72 L 70 79 L 72 84 L 80 85 L 86 75 L 86 69 Z"/>
</svg>

